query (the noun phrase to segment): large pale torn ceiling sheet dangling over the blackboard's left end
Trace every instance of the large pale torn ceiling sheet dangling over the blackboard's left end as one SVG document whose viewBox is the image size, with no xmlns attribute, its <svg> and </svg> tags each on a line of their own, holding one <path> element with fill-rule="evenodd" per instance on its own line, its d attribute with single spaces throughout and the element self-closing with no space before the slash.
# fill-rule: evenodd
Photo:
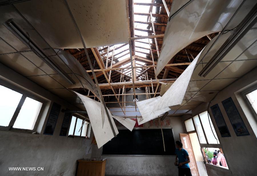
<svg viewBox="0 0 257 176">
<path fill-rule="evenodd" d="M 95 101 L 89 97 L 86 97 L 85 95 L 81 95 L 77 92 L 75 92 L 80 99 L 83 101 L 83 104 L 85 105 L 85 108 L 87 109 L 87 114 L 90 120 L 90 123 L 93 128 L 93 132 L 95 135 L 95 139 L 97 141 L 98 148 L 102 147 L 105 143 L 113 139 L 113 131 L 111 129 L 111 125 L 109 123 L 107 114 L 105 113 L 105 123 L 102 126 L 102 115 L 101 115 L 101 103 L 98 101 Z M 110 117 L 112 117 L 112 114 L 109 111 Z M 113 118 L 111 118 L 113 127 L 115 129 L 116 135 L 119 134 L 119 131 L 114 123 Z"/>
</svg>

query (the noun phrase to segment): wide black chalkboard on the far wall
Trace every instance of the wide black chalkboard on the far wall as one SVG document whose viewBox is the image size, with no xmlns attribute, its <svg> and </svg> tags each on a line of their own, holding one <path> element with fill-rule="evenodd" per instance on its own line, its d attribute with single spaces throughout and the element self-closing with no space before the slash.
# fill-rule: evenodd
<svg viewBox="0 0 257 176">
<path fill-rule="evenodd" d="M 175 155 L 175 142 L 172 129 L 119 130 L 117 137 L 103 146 L 103 155 Z"/>
</svg>

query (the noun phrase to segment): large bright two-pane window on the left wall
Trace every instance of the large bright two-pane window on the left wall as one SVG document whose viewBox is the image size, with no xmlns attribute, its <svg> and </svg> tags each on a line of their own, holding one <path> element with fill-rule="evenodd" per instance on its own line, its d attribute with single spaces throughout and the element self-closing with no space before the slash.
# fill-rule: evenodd
<svg viewBox="0 0 257 176">
<path fill-rule="evenodd" d="M 43 103 L 0 85 L 0 126 L 33 130 Z"/>
</svg>

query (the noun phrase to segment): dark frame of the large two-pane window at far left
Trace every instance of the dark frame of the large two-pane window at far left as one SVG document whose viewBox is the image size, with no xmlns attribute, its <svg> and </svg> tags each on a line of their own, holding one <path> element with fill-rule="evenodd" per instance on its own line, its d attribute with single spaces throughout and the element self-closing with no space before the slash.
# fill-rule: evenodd
<svg viewBox="0 0 257 176">
<path fill-rule="evenodd" d="M 23 89 L 20 89 L 20 88 L 12 85 L 10 83 L 4 82 L 2 80 L 0 81 L 0 85 L 3 86 L 3 87 L 6 87 L 8 89 L 11 89 L 11 90 L 13 90 L 15 92 L 18 92 L 18 93 L 22 94 L 22 97 L 21 97 L 21 99 L 20 99 L 20 101 L 19 101 L 19 103 L 18 103 L 18 105 L 17 105 L 17 107 L 16 107 L 16 109 L 15 109 L 15 111 L 13 113 L 13 116 L 12 116 L 10 122 L 9 122 L 9 125 L 7 127 L 0 126 L 0 130 L 3 130 L 3 131 L 19 131 L 19 132 L 25 132 L 25 133 L 33 133 L 33 132 L 35 132 L 36 129 L 37 129 L 38 123 L 39 123 L 39 121 L 40 121 L 40 119 L 42 117 L 42 114 L 43 114 L 43 111 L 44 111 L 44 108 L 45 108 L 45 104 L 46 104 L 47 101 L 39 98 L 38 96 L 33 95 L 32 93 L 29 93 L 29 92 L 27 92 L 27 91 L 25 91 Z M 15 123 L 18 115 L 19 115 L 19 112 L 21 110 L 21 107 L 22 107 L 26 97 L 31 98 L 33 100 L 36 100 L 36 101 L 42 103 L 42 107 L 41 107 L 41 109 L 39 111 L 39 114 L 37 116 L 37 120 L 35 122 L 35 125 L 34 125 L 33 129 L 13 128 L 13 125 L 14 125 L 14 123 Z"/>
</svg>

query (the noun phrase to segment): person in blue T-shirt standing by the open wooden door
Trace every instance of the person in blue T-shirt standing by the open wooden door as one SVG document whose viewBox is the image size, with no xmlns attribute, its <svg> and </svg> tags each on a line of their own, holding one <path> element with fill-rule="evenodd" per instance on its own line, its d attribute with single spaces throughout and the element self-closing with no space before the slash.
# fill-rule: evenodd
<svg viewBox="0 0 257 176">
<path fill-rule="evenodd" d="M 178 165 L 178 176 L 192 176 L 189 164 L 190 159 L 188 153 L 185 149 L 183 149 L 183 144 L 180 141 L 176 141 L 176 161 L 175 165 Z M 178 160 L 178 164 L 177 164 Z"/>
</svg>

